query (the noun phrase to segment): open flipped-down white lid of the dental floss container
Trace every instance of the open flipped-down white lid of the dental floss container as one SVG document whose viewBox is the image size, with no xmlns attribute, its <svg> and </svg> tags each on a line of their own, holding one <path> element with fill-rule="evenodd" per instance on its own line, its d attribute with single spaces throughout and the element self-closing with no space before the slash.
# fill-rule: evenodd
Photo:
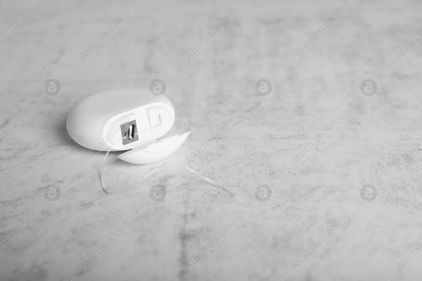
<svg viewBox="0 0 422 281">
<path fill-rule="evenodd" d="M 117 156 L 117 158 L 134 164 L 150 164 L 172 155 L 184 143 L 190 131 L 184 134 L 158 139 Z"/>
</svg>

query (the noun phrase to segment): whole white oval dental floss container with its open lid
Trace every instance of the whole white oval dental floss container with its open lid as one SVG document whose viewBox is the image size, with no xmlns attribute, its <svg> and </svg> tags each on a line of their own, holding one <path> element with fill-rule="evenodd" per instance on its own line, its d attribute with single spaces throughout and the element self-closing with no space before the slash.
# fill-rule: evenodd
<svg viewBox="0 0 422 281">
<path fill-rule="evenodd" d="M 173 126 L 174 118 L 174 107 L 167 97 L 154 96 L 148 88 L 122 88 L 83 99 L 70 110 L 66 128 L 83 147 L 129 150 L 117 157 L 149 164 L 174 153 L 189 135 L 190 131 L 160 139 Z"/>
</svg>

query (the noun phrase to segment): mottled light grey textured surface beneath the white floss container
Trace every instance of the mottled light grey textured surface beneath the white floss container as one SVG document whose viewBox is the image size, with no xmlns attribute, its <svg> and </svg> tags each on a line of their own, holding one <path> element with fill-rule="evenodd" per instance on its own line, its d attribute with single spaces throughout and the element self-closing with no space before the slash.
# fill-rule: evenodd
<svg viewBox="0 0 422 281">
<path fill-rule="evenodd" d="M 1 134 L 25 118 L 0 144 L 0 238 L 25 223 L 0 249 L 0 280 L 420 279 L 422 254 L 402 271 L 397 263 L 422 250 L 422 151 L 394 162 L 422 137 L 422 47 L 397 55 L 421 38 L 420 2 L 136 2 L 0 3 L 0 27 L 25 12 L 0 39 Z M 84 48 L 126 10 L 124 25 L 84 61 Z M 232 10 L 230 25 L 189 61 L 186 52 Z M 335 26 L 295 61 L 292 51 L 335 11 Z M 55 97 L 43 92 L 51 78 L 62 84 Z M 105 153 L 84 165 L 88 150 L 68 135 L 67 114 L 86 96 L 156 78 L 177 105 L 168 135 L 191 134 L 150 165 L 110 153 L 105 193 Z M 273 84 L 271 95 L 254 92 L 261 78 Z M 360 92 L 367 78 L 379 85 L 375 96 Z M 189 166 L 199 175 L 185 169 L 189 153 L 230 116 L 230 130 Z M 335 131 L 294 165 L 336 116 Z M 62 190 L 57 202 L 43 196 L 50 184 Z M 168 190 L 162 202 L 149 198 L 155 184 Z M 254 197 L 260 184 L 271 186 L 270 201 Z M 379 191 L 373 202 L 360 197 L 366 184 Z M 81 263 L 125 221 L 124 236 L 84 271 Z M 231 221 L 230 236 L 189 271 L 187 262 Z M 293 270 L 337 221 L 335 236 Z"/>
</svg>

